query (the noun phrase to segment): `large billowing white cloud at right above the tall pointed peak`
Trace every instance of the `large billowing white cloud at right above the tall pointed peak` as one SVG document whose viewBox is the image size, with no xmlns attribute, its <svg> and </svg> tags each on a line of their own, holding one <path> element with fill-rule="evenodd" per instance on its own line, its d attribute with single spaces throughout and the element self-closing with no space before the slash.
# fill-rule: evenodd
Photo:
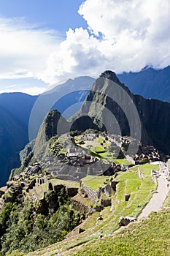
<svg viewBox="0 0 170 256">
<path fill-rule="evenodd" d="M 139 71 L 170 64 L 169 0 L 86 0 L 79 10 L 88 30 L 66 33 L 39 77 L 56 83 L 66 76 Z"/>
</svg>

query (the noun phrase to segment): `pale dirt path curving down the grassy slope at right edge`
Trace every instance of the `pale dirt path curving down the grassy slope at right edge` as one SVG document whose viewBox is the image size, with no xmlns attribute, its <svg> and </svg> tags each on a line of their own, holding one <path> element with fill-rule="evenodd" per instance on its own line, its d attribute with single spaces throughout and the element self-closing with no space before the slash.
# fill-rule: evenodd
<svg viewBox="0 0 170 256">
<path fill-rule="evenodd" d="M 156 192 L 152 195 L 150 202 L 144 207 L 142 213 L 139 214 L 138 219 L 147 217 L 152 211 L 158 211 L 162 208 L 163 202 L 169 193 L 169 187 L 167 186 L 168 181 L 165 176 L 161 175 L 158 177 L 158 188 Z"/>
</svg>

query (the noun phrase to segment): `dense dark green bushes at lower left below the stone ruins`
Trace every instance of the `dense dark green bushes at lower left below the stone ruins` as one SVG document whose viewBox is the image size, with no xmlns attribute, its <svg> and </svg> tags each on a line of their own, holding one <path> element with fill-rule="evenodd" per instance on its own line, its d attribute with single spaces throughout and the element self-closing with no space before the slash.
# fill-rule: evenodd
<svg viewBox="0 0 170 256">
<path fill-rule="evenodd" d="M 80 214 L 70 206 L 70 199 L 61 190 L 57 196 L 47 192 L 45 204 L 31 200 L 6 203 L 0 215 L 1 255 L 19 249 L 31 252 L 44 246 L 61 241 L 66 233 L 80 222 Z M 4 235 L 3 235 L 4 234 Z"/>
</svg>

